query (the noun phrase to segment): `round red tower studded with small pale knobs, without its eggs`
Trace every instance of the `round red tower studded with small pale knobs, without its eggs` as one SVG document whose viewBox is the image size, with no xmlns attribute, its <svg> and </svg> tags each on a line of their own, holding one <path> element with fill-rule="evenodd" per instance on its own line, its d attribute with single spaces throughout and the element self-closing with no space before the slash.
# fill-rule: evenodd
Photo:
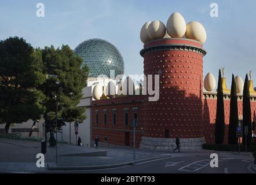
<svg viewBox="0 0 256 185">
<path fill-rule="evenodd" d="M 144 45 L 144 74 L 160 75 L 159 100 L 144 102 L 147 138 L 203 138 L 203 45 L 159 39 Z"/>
</svg>

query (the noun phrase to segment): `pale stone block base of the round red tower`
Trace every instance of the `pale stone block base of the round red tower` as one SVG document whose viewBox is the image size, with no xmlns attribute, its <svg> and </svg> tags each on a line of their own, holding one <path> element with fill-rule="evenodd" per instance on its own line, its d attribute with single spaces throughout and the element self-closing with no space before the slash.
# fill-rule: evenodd
<svg viewBox="0 0 256 185">
<path fill-rule="evenodd" d="M 191 138 L 191 139 L 180 139 L 180 150 L 181 151 L 198 151 L 202 150 L 202 145 L 206 143 L 203 138 Z M 175 149 L 175 138 L 148 138 L 142 137 L 140 143 L 140 149 L 153 149 L 153 150 L 173 150 Z"/>
</svg>

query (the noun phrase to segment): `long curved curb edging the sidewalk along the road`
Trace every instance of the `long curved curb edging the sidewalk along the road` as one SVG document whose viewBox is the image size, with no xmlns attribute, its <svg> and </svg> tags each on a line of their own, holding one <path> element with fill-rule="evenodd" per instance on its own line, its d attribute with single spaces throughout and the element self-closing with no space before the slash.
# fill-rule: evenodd
<svg viewBox="0 0 256 185">
<path fill-rule="evenodd" d="M 101 165 L 101 166 L 56 166 L 56 164 L 47 164 L 49 171 L 79 171 L 79 170 L 92 170 L 92 169 L 107 169 L 107 168 L 117 168 L 127 165 L 134 165 L 140 162 L 147 162 L 147 161 L 153 161 L 153 160 L 161 160 L 170 158 L 169 157 L 152 157 L 142 160 L 136 160 L 136 161 L 129 161 L 129 162 L 122 162 L 118 164 L 111 164 L 111 165 Z"/>
</svg>

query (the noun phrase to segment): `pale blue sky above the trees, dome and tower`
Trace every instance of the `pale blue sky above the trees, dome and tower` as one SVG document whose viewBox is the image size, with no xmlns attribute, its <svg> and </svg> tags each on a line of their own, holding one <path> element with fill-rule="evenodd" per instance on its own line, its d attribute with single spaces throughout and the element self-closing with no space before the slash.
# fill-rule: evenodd
<svg viewBox="0 0 256 185">
<path fill-rule="evenodd" d="M 45 17 L 36 16 L 37 3 L 45 5 Z M 218 4 L 218 17 L 210 16 L 211 3 Z M 140 75 L 142 25 L 153 20 L 166 24 L 173 12 L 180 12 L 186 23 L 199 21 L 206 28 L 204 76 L 212 72 L 217 80 L 218 69 L 225 66 L 230 88 L 232 73 L 245 79 L 253 70 L 256 80 L 255 7 L 255 0 L 2 0 L 0 39 L 19 36 L 34 47 L 64 44 L 71 49 L 90 38 L 105 39 L 122 54 L 125 75 Z"/>
</svg>

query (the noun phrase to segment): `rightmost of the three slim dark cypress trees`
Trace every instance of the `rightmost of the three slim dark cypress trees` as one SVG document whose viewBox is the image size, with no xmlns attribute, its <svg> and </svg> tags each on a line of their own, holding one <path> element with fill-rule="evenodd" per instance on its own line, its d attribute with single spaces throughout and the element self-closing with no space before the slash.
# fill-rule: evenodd
<svg viewBox="0 0 256 185">
<path fill-rule="evenodd" d="M 244 134 L 244 126 L 248 126 L 248 135 Z M 243 90 L 243 144 L 247 145 L 251 144 L 251 100 L 250 100 L 250 90 L 249 90 L 249 82 L 248 75 L 246 74 L 246 80 L 244 82 L 244 90 Z"/>
</svg>

